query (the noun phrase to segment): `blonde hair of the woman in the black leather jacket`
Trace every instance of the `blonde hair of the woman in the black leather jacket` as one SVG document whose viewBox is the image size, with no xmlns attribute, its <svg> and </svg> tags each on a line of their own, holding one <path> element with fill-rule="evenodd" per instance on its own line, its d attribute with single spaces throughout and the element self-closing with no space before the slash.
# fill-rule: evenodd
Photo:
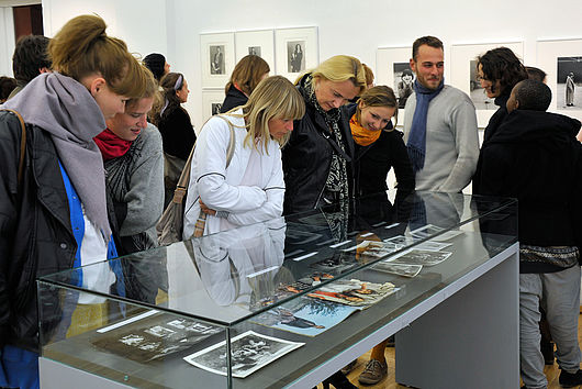
<svg viewBox="0 0 582 389">
<path fill-rule="evenodd" d="M 309 71 L 307 71 L 309 73 Z M 336 55 L 320 64 L 315 69 L 311 70 L 312 87 L 315 90 L 316 79 L 326 79 L 333 82 L 343 82 L 350 80 L 356 88 L 359 88 L 358 95 L 366 90 L 366 71 L 360 60 L 349 55 Z M 303 78 L 301 75 L 295 85 Z"/>
</svg>

